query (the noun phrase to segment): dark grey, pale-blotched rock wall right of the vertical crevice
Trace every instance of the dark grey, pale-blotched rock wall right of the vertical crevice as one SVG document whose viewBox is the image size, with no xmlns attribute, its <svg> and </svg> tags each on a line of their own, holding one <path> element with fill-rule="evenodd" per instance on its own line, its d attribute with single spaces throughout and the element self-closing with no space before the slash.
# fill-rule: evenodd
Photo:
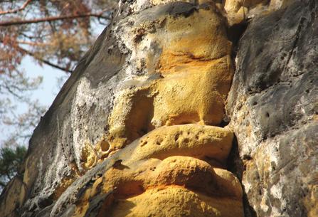
<svg viewBox="0 0 318 217">
<path fill-rule="evenodd" d="M 258 216 L 318 215 L 317 15 L 317 1 L 292 4 L 240 39 L 227 109 Z"/>
</svg>

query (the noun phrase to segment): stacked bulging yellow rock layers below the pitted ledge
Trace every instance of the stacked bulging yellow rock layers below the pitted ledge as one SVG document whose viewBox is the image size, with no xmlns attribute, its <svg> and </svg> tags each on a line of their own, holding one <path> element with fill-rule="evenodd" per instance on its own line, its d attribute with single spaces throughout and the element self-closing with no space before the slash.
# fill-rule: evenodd
<svg viewBox="0 0 318 217">
<path fill-rule="evenodd" d="M 83 194 L 78 216 L 85 216 L 89 201 L 98 193 L 96 189 L 102 194 L 112 191 L 111 203 L 107 201 L 100 211 L 112 210 L 110 216 L 182 216 L 180 211 L 190 216 L 228 216 L 232 206 L 233 213 L 238 214 L 235 216 L 243 213 L 238 179 L 225 169 L 215 169 L 193 157 L 117 162 Z M 128 204 L 132 206 L 128 208 Z M 163 205 L 167 210 L 161 213 Z M 166 213 L 169 210 L 171 213 Z"/>
</svg>

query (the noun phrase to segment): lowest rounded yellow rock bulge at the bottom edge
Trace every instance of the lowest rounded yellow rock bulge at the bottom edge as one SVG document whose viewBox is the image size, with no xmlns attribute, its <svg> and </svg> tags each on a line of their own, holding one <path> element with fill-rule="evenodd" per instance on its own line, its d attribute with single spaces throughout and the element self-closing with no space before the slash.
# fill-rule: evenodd
<svg viewBox="0 0 318 217">
<path fill-rule="evenodd" d="M 208 197 L 181 186 L 149 189 L 144 194 L 117 201 L 110 216 L 243 216 L 240 201 Z"/>
</svg>

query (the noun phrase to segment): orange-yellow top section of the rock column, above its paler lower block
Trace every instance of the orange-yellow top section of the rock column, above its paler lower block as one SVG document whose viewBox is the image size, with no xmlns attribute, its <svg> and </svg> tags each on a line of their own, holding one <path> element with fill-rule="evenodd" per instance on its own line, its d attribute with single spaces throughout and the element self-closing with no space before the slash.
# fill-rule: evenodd
<svg viewBox="0 0 318 217">
<path fill-rule="evenodd" d="M 157 65 L 161 73 L 205 73 L 210 71 L 210 65 L 216 65 L 212 60 L 230 55 L 226 23 L 216 10 L 199 9 L 191 16 L 166 20 L 169 37 L 157 36 L 163 44 Z"/>
</svg>

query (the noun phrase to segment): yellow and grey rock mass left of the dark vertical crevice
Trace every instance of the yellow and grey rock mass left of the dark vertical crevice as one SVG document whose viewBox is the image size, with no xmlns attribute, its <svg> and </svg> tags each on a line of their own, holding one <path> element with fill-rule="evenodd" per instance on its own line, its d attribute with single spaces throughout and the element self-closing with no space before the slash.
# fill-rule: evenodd
<svg viewBox="0 0 318 217">
<path fill-rule="evenodd" d="M 243 216 L 226 171 L 233 133 L 211 126 L 223 120 L 231 47 L 212 1 L 121 2 L 33 134 L 25 191 L 15 203 L 4 192 L 4 215 L 125 216 L 129 203 L 140 216 L 153 195 L 145 216 Z"/>
</svg>

